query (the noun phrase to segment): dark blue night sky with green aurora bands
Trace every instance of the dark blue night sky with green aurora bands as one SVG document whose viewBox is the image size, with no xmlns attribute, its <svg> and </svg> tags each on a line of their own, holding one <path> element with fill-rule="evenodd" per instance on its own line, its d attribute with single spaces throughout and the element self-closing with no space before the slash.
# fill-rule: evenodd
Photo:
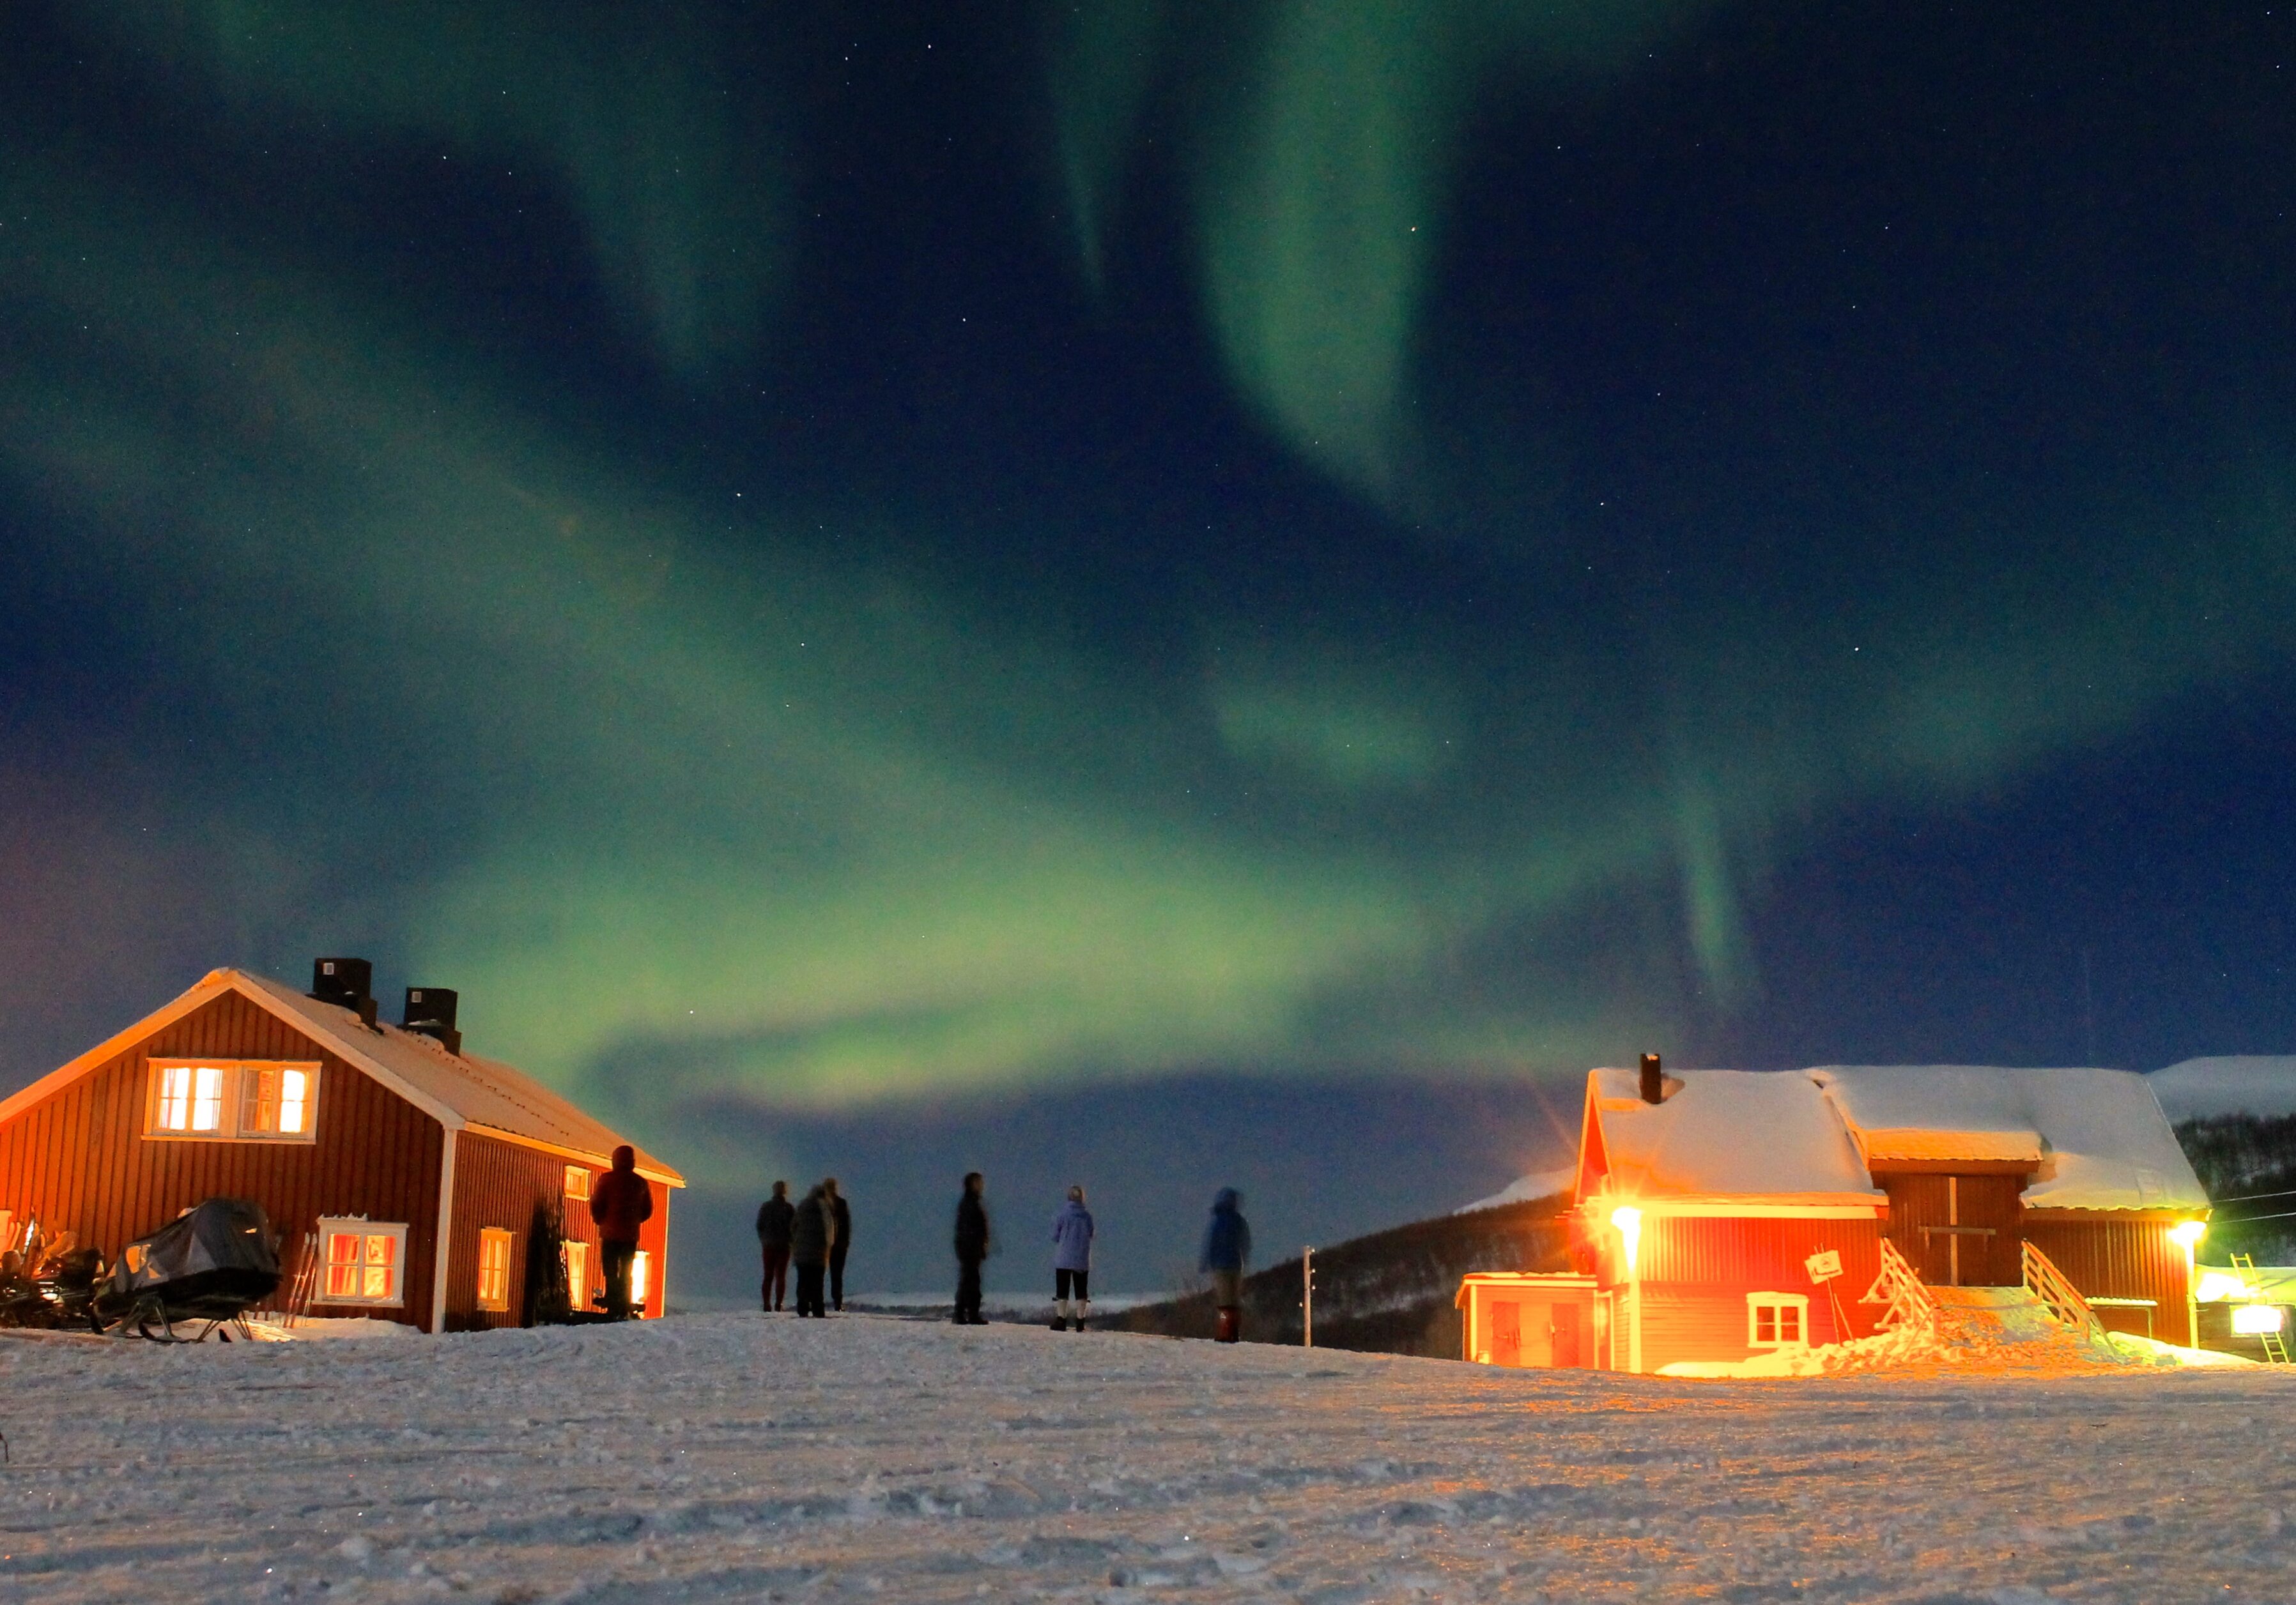
<svg viewBox="0 0 2296 1605">
<path fill-rule="evenodd" d="M 2296 9 L 0 9 L 0 1088 L 461 990 L 937 1286 L 2296 1052 Z"/>
</svg>

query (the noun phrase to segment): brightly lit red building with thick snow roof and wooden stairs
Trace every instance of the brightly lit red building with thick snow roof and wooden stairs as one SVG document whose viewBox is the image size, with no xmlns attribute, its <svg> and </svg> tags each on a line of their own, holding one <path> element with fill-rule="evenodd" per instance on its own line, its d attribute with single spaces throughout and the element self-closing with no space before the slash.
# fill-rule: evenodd
<svg viewBox="0 0 2296 1605">
<path fill-rule="evenodd" d="M 1573 1274 L 1460 1288 L 1469 1359 L 1660 1371 L 1871 1336 L 1892 1256 L 1929 1286 L 2055 1272 L 2108 1327 L 2190 1343 L 2209 1212 L 2126 1070 L 1655 1056 L 1589 1072 L 1575 1199 Z"/>
</svg>

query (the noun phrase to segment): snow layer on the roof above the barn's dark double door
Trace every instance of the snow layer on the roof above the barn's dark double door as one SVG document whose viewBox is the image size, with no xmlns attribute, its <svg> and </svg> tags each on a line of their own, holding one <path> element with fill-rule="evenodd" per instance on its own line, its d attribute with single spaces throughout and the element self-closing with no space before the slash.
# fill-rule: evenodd
<svg viewBox="0 0 2296 1605">
<path fill-rule="evenodd" d="M 1807 1072 L 1869 1162 L 2014 1160 L 2041 1210 L 2204 1210 L 2193 1164 L 2133 1070 L 1821 1065 Z"/>
</svg>

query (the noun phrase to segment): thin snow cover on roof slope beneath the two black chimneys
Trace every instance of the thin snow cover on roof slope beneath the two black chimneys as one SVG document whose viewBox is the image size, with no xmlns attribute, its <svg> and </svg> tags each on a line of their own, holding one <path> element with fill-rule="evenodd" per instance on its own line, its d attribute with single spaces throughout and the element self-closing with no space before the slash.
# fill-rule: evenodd
<svg viewBox="0 0 2296 1605">
<path fill-rule="evenodd" d="M 602 1166 L 627 1141 L 530 1075 L 494 1059 L 450 1054 L 443 1042 L 390 1024 L 377 1024 L 370 1031 L 349 1008 L 321 1003 L 269 976 L 218 969 L 209 980 L 216 978 L 225 978 L 276 1013 L 289 1015 L 301 1031 L 321 1038 L 351 1063 L 386 1070 L 386 1081 L 393 1077 L 406 1081 L 422 1100 L 443 1104 L 471 1127 L 565 1148 Z M 638 1169 L 657 1180 L 684 1185 L 677 1171 L 643 1148 L 638 1150 Z"/>
</svg>

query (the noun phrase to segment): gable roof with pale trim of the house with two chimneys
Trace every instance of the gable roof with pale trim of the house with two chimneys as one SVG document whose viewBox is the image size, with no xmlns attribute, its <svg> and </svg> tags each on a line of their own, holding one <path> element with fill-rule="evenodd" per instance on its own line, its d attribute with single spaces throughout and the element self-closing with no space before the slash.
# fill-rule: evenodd
<svg viewBox="0 0 2296 1605">
<path fill-rule="evenodd" d="M 478 1054 L 450 1054 L 443 1042 L 418 1031 L 402 1031 L 388 1024 L 370 1029 L 349 1008 L 321 1003 L 282 980 L 255 976 L 243 969 L 211 969 L 172 1003 L 0 1102 L 0 1121 L 51 1098 L 225 992 L 239 992 L 257 1008 L 287 1022 L 338 1059 L 356 1065 L 422 1109 L 422 1114 L 450 1132 L 468 1130 L 484 1137 L 501 1137 L 526 1148 L 563 1153 L 569 1160 L 597 1166 L 611 1164 L 613 1150 L 627 1141 L 521 1070 L 512 1070 L 494 1059 L 480 1059 Z M 643 1148 L 638 1148 L 638 1173 L 668 1187 L 687 1185 L 684 1176 Z"/>
</svg>

